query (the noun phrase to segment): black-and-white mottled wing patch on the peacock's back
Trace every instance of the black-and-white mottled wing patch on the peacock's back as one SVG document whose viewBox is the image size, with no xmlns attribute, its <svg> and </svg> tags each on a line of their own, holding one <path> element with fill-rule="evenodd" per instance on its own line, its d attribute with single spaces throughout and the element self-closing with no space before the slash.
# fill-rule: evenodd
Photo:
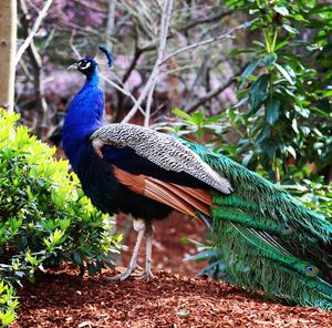
<svg viewBox="0 0 332 328">
<path fill-rule="evenodd" d="M 131 147 L 166 171 L 187 173 L 224 194 L 232 192 L 227 178 L 172 135 L 134 124 L 107 124 L 95 131 L 91 139 L 97 151 L 103 144 Z"/>
</svg>

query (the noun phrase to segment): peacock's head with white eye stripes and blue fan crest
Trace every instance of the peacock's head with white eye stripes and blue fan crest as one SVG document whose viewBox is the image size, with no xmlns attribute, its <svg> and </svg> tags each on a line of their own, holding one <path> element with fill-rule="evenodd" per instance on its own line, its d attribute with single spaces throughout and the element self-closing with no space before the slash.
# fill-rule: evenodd
<svg viewBox="0 0 332 328">
<path fill-rule="evenodd" d="M 97 70 L 98 64 L 105 64 L 111 68 L 113 64 L 113 57 L 107 50 L 106 47 L 100 45 L 98 47 L 100 52 L 95 58 L 92 57 L 85 57 L 79 60 L 76 63 L 70 65 L 68 69 L 69 70 L 77 70 L 81 73 L 83 73 L 87 80 L 91 79 Z"/>
</svg>

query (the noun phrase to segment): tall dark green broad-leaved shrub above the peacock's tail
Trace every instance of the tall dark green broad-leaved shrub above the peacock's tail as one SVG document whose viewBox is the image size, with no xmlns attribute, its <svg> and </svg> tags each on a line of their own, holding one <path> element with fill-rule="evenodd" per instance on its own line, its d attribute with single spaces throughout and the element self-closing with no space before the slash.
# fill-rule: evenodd
<svg viewBox="0 0 332 328">
<path fill-rule="evenodd" d="M 228 110 L 245 164 L 270 178 L 308 161 L 321 168 L 331 160 L 331 3 L 303 0 L 228 0 L 255 20 L 257 40 L 246 49 L 251 62 L 239 78 L 239 103 Z M 331 162 L 331 161 L 330 161 Z"/>
</svg>

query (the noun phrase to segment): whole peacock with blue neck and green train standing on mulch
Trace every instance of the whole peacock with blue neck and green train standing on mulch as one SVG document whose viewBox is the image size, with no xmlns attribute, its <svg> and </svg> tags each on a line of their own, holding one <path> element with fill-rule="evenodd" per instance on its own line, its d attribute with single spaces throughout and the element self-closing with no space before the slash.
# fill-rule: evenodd
<svg viewBox="0 0 332 328">
<path fill-rule="evenodd" d="M 111 68 L 112 54 L 100 50 Z M 143 238 L 139 277 L 153 277 L 153 222 L 175 209 L 208 227 L 232 283 L 331 310 L 331 219 L 205 145 L 128 123 L 104 125 L 102 63 L 102 55 L 85 57 L 70 66 L 86 81 L 68 109 L 63 147 L 97 208 L 134 217 L 137 240 L 129 265 L 113 279 L 137 269 Z"/>
</svg>

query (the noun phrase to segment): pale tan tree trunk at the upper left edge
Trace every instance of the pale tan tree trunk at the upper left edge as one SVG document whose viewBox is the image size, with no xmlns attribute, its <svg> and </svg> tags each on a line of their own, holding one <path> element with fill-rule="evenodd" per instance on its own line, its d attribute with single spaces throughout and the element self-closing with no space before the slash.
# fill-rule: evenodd
<svg viewBox="0 0 332 328">
<path fill-rule="evenodd" d="M 17 1 L 0 0 L 0 107 L 13 111 L 17 52 Z"/>
</svg>

